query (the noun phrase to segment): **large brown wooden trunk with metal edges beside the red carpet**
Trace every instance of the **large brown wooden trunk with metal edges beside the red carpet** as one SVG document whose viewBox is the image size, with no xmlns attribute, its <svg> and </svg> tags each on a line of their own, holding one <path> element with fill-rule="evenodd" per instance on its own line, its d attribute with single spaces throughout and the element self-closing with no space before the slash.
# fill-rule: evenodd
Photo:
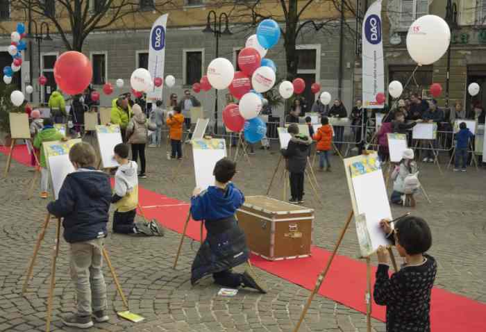
<svg viewBox="0 0 486 332">
<path fill-rule="evenodd" d="M 313 209 L 250 196 L 236 215 L 254 254 L 267 260 L 310 256 Z"/>
</svg>

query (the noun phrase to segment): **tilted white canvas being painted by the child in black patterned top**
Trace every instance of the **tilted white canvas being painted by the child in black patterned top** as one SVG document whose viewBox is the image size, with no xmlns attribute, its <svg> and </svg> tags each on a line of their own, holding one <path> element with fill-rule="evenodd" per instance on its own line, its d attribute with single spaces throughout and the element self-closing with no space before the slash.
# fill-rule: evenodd
<svg viewBox="0 0 486 332">
<path fill-rule="evenodd" d="M 392 219 L 387 188 L 376 153 L 344 159 L 361 256 L 390 244 L 380 228 L 381 219 Z"/>
</svg>

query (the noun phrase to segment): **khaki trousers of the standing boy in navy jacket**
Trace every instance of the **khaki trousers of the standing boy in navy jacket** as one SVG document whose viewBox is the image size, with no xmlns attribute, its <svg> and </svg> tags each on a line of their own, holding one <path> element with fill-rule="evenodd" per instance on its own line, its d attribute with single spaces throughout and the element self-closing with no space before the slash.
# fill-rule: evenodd
<svg viewBox="0 0 486 332">
<path fill-rule="evenodd" d="M 70 244 L 71 279 L 76 288 L 77 315 L 106 310 L 106 283 L 103 277 L 103 239 Z"/>
</svg>

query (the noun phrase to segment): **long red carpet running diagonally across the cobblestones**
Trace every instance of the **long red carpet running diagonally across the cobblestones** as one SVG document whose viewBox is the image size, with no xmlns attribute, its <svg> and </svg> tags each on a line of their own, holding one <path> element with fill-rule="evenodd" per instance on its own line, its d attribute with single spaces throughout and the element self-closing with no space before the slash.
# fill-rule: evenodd
<svg viewBox="0 0 486 332">
<path fill-rule="evenodd" d="M 15 149 L 14 158 L 16 160 L 19 158 L 18 160 L 21 162 L 28 160 L 26 149 L 18 150 Z M 0 149 L 2 153 L 5 151 L 8 152 L 8 149 Z M 140 188 L 140 205 L 148 219 L 156 218 L 168 229 L 182 233 L 189 204 Z M 187 236 L 199 240 L 199 231 L 199 222 L 191 220 L 187 227 Z M 310 258 L 270 262 L 258 256 L 252 256 L 251 261 L 253 265 L 271 274 L 312 290 L 317 275 L 324 269 L 329 256 L 330 252 L 314 247 Z M 366 309 L 365 290 L 366 265 L 346 256 L 335 256 L 319 294 L 364 313 Z M 486 315 L 486 304 L 447 290 L 433 289 L 430 313 L 433 331 L 484 332 L 486 331 L 484 315 Z M 374 304 L 373 317 L 385 321 L 385 308 Z"/>
</svg>

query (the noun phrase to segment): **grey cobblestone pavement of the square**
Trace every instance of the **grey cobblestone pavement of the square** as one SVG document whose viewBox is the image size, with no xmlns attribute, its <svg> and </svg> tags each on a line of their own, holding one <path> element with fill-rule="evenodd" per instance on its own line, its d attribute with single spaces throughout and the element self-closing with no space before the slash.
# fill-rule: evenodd
<svg viewBox="0 0 486 332">
<path fill-rule="evenodd" d="M 189 156 L 190 148 L 186 146 L 185 152 Z M 257 150 L 250 159 L 251 164 L 240 159 L 235 183 L 246 195 L 265 194 L 278 154 L 275 150 Z M 0 156 L 0 169 L 4 169 L 5 162 L 5 156 Z M 314 244 L 328 250 L 332 249 L 350 208 L 342 162 L 334 157 L 331 163 L 333 172 L 317 172 L 321 206 L 312 204 L 312 191 L 307 183 L 305 188 L 307 205 L 316 208 Z M 147 174 L 148 179 L 140 181 L 145 188 L 188 201 L 194 188 L 192 158 L 169 161 L 165 146 L 148 149 Z M 32 176 L 27 167 L 14 162 L 8 178 L 0 179 L 0 331 L 44 331 L 54 223 L 40 249 L 28 291 L 25 297 L 21 294 L 26 265 L 46 214 L 46 201 L 37 196 L 26 201 Z M 486 303 L 485 176 L 485 169 L 479 172 L 469 169 L 465 174 L 445 171 L 442 176 L 434 165 L 421 165 L 421 181 L 432 204 L 419 195 L 414 210 L 414 214 L 429 222 L 433 231 L 430 254 L 439 264 L 437 287 L 483 303 Z M 282 197 L 281 185 L 278 177 L 271 190 L 271 195 L 278 199 Z M 394 208 L 393 212 L 401 215 L 405 211 Z M 133 324 L 116 317 L 115 312 L 123 310 L 123 304 L 105 269 L 110 322 L 95 324 L 90 331 L 292 331 L 308 290 L 262 271 L 259 272 L 270 288 L 266 295 L 242 290 L 234 298 L 217 297 L 219 288 L 210 280 L 191 288 L 190 264 L 198 244 L 185 241 L 178 268 L 174 270 L 171 265 L 179 238 L 171 231 L 166 232 L 165 238 L 110 234 L 107 248 L 130 308 L 146 320 Z M 339 253 L 357 256 L 354 226 L 346 233 Z M 67 255 L 67 244 L 62 240 L 52 331 L 74 331 L 62 326 L 59 319 L 59 315 L 74 309 Z M 376 331 L 385 330 L 381 322 L 374 321 L 373 325 Z M 364 315 L 324 297 L 315 297 L 301 331 L 365 331 Z"/>
</svg>

